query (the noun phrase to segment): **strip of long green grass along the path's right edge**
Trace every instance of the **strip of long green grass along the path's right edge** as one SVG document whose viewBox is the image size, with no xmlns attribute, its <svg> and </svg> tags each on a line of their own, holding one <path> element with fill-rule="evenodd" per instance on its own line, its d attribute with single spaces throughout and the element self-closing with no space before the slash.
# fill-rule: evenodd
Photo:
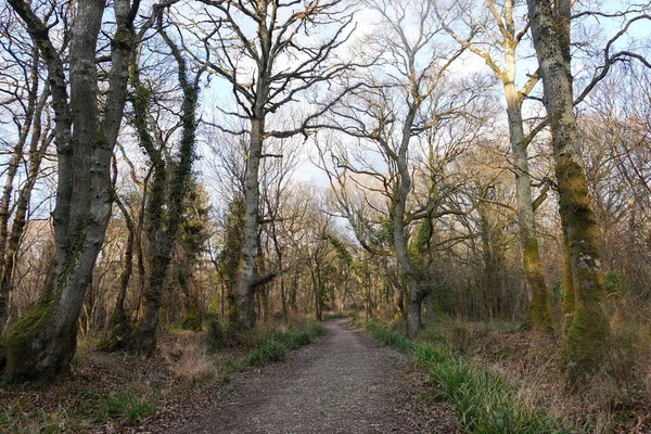
<svg viewBox="0 0 651 434">
<path fill-rule="evenodd" d="M 412 342 L 397 331 L 367 323 L 381 343 L 409 355 L 430 372 L 433 398 L 451 404 L 462 429 L 476 434 L 561 434 L 560 423 L 541 410 L 519 403 L 513 388 L 500 375 L 474 367 L 449 347 Z"/>
</svg>

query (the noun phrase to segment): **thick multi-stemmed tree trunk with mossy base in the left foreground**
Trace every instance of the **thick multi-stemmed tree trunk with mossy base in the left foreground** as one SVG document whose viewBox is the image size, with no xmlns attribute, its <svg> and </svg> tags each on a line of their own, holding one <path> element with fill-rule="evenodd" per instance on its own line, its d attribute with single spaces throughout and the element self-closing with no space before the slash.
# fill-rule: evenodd
<svg viewBox="0 0 651 434">
<path fill-rule="evenodd" d="M 69 85 L 64 61 L 50 40 L 46 24 L 28 3 L 9 3 L 25 22 L 47 65 L 56 118 L 59 181 L 52 213 L 54 264 L 36 309 L 2 339 L 4 374 L 15 380 L 44 379 L 69 369 L 79 311 L 111 217 L 110 164 L 126 100 L 137 8 L 131 9 L 128 0 L 114 3 L 112 67 L 100 118 L 95 50 L 104 3 L 77 3 L 68 56 Z"/>
</svg>

